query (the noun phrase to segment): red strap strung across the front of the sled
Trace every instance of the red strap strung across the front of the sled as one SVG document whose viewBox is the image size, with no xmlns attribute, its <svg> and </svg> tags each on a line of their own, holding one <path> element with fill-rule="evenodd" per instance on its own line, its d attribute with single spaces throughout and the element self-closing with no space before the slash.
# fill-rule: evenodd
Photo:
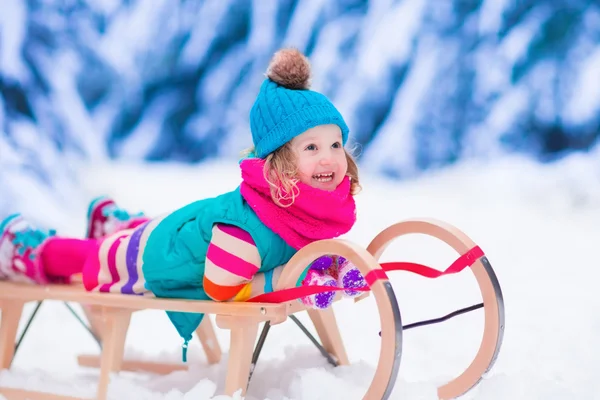
<svg viewBox="0 0 600 400">
<path fill-rule="evenodd" d="M 367 281 L 367 286 L 363 286 L 361 288 L 356 288 L 353 290 L 359 292 L 368 292 L 373 284 L 380 280 L 387 280 L 386 271 L 408 271 L 413 272 L 415 274 L 424 276 L 426 278 L 439 278 L 443 275 L 456 274 L 463 269 L 470 267 L 477 261 L 480 257 L 484 255 L 483 251 L 479 248 L 479 246 L 473 247 L 471 250 L 467 251 L 460 257 L 456 259 L 446 270 L 439 271 L 437 269 L 433 269 L 427 267 L 422 264 L 416 263 L 408 263 L 408 262 L 390 262 L 381 264 L 382 269 L 374 269 L 371 270 L 366 276 L 365 280 Z M 271 293 L 264 293 L 258 296 L 255 296 L 251 299 L 248 299 L 247 302 L 250 303 L 285 303 L 292 300 L 297 300 L 302 297 L 310 296 L 317 293 L 325 293 L 325 292 L 338 292 L 341 290 L 345 290 L 340 287 L 331 287 L 331 286 L 298 286 L 289 289 L 277 290 Z"/>
</svg>

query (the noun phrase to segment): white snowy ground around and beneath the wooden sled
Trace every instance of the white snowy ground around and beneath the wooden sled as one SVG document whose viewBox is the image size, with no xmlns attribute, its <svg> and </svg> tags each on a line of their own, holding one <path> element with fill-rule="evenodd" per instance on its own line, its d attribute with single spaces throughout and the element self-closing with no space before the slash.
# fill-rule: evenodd
<svg viewBox="0 0 600 400">
<path fill-rule="evenodd" d="M 359 222 L 348 239 L 366 246 L 393 222 L 439 218 L 473 238 L 496 270 L 506 306 L 504 344 L 489 376 L 465 398 L 600 399 L 600 168 L 594 161 L 599 159 L 598 154 L 572 156 L 545 167 L 518 159 L 463 164 L 401 184 L 364 178 L 364 191 L 357 197 Z M 228 190 L 239 176 L 235 162 L 222 161 L 194 168 L 112 165 L 87 172 L 84 184 L 89 197 L 114 195 L 123 205 L 149 214 Z M 83 199 L 68 218 L 57 211 L 59 205 L 48 208 L 63 232 L 83 234 Z M 442 269 L 454 254 L 432 239 L 412 237 L 391 246 L 383 259 L 418 261 Z M 397 273 L 392 282 L 405 323 L 480 300 L 468 271 L 435 281 Z M 372 298 L 356 305 L 344 301 L 335 308 L 353 365 L 330 368 L 296 326 L 287 322 L 271 330 L 248 399 L 361 398 L 379 353 L 378 315 Z M 481 316 L 477 311 L 407 331 L 392 398 L 434 399 L 436 385 L 462 372 L 473 358 L 481 337 Z M 228 398 L 215 395 L 224 385 L 228 343 L 225 331 L 218 334 L 225 352 L 219 365 L 207 366 L 194 344 L 189 372 L 164 377 L 124 373 L 113 380 L 110 398 Z M 178 360 L 180 345 L 164 313 L 134 315 L 126 344 L 129 355 Z M 97 371 L 78 367 L 75 357 L 96 351 L 64 305 L 48 302 L 13 369 L 0 374 L 0 384 L 92 396 Z"/>
</svg>

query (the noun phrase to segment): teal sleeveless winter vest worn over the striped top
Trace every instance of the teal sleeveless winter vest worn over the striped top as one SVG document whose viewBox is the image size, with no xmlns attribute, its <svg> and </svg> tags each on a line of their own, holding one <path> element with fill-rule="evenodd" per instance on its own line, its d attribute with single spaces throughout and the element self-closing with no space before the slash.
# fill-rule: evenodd
<svg viewBox="0 0 600 400">
<path fill-rule="evenodd" d="M 217 223 L 238 226 L 252 236 L 261 257 L 260 272 L 287 263 L 296 253 L 258 219 L 238 187 L 191 203 L 158 223 L 143 249 L 146 288 L 156 297 L 210 300 L 202 282 L 212 228 Z M 167 315 L 185 340 L 185 349 L 204 315 L 170 311 Z"/>
</svg>

